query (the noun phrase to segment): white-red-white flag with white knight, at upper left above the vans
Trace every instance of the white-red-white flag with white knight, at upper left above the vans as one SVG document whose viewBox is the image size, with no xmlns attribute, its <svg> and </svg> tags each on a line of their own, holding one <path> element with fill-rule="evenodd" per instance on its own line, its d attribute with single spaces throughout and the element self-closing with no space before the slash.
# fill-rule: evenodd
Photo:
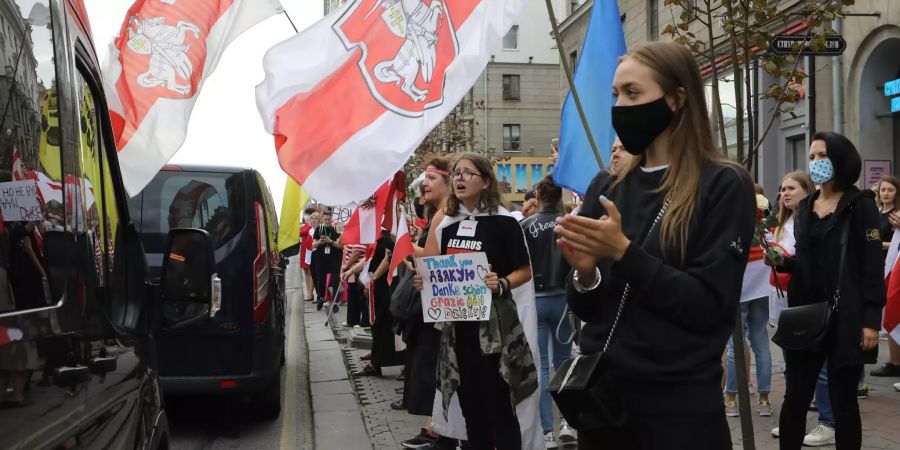
<svg viewBox="0 0 900 450">
<path fill-rule="evenodd" d="M 119 165 L 136 195 L 184 143 L 204 81 L 278 0 L 137 0 L 103 67 Z"/>
</svg>

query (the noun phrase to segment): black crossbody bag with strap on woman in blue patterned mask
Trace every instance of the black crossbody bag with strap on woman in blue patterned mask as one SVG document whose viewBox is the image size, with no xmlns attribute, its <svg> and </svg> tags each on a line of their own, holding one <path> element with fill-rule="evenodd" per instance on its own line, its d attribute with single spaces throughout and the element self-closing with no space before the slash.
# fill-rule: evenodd
<svg viewBox="0 0 900 450">
<path fill-rule="evenodd" d="M 841 235 L 841 259 L 838 263 L 838 280 L 831 301 L 827 298 L 809 305 L 793 306 L 781 311 L 778 330 L 772 342 L 785 350 L 802 350 L 825 353 L 828 333 L 835 314 L 840 309 L 841 282 L 844 279 L 844 260 L 847 258 L 847 241 L 850 235 L 850 218 L 844 223 Z"/>
</svg>

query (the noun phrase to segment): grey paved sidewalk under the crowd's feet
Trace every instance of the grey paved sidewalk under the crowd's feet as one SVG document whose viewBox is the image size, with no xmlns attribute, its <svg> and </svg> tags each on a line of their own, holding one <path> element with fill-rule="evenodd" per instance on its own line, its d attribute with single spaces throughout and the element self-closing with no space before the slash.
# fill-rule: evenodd
<svg viewBox="0 0 900 450">
<path fill-rule="evenodd" d="M 418 434 L 420 428 L 425 425 L 424 417 L 412 416 L 406 411 L 390 408 L 391 402 L 402 397 L 395 391 L 396 388 L 403 386 L 401 381 L 397 381 L 402 368 L 384 368 L 381 377 L 349 375 L 365 366 L 365 361 L 359 358 L 368 350 L 350 347 L 350 330 L 340 325 L 344 321 L 346 309 L 341 308 L 341 311 L 332 318 L 333 331 L 323 325 L 325 310 L 316 312 L 314 306 L 307 304 L 306 312 L 307 337 L 310 339 L 310 381 L 313 384 L 313 409 L 316 416 L 316 448 L 369 448 L 369 442 L 371 448 L 377 450 L 402 448 L 400 442 Z M 880 341 L 879 345 L 880 364 L 887 359 L 888 349 L 885 341 Z M 337 359 L 338 354 L 343 357 L 344 364 L 339 364 L 341 360 Z M 779 409 L 784 398 L 784 362 L 781 349 L 774 344 L 772 344 L 772 358 L 775 373 L 772 376 L 770 398 L 775 407 L 774 414 L 771 417 L 760 417 L 755 408 L 758 397 L 755 393 L 751 395 L 755 448 L 759 450 L 778 449 L 778 440 L 772 437 L 771 430 L 778 426 Z M 866 373 L 868 374 L 874 367 L 867 366 Z M 317 372 L 314 375 L 313 371 L 317 368 L 321 373 Z M 339 369 L 344 372 L 340 373 Z M 755 382 L 755 376 L 752 374 L 751 379 Z M 869 385 L 869 398 L 859 401 L 863 423 L 862 449 L 900 449 L 900 427 L 897 427 L 900 419 L 900 393 L 892 386 L 893 383 L 900 382 L 900 379 L 867 376 L 866 382 Z M 555 415 L 558 424 L 558 411 Z M 807 415 L 808 431 L 817 425 L 817 417 L 815 412 Z M 330 425 L 322 423 L 322 420 L 334 419 L 337 421 Z M 360 427 L 362 423 L 365 428 Z M 740 418 L 729 417 L 728 424 L 731 427 L 734 448 L 743 449 Z M 330 434 L 323 435 L 323 432 Z M 340 442 L 347 443 L 355 441 L 360 445 L 342 447 L 337 444 L 338 441 L 332 439 L 341 439 Z"/>
</svg>

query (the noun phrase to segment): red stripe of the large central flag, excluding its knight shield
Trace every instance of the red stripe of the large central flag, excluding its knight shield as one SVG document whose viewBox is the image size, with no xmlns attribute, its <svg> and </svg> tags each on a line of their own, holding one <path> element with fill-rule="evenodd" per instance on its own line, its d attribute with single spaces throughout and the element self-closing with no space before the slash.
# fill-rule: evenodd
<svg viewBox="0 0 900 450">
<path fill-rule="evenodd" d="M 468 20 L 481 1 L 445 3 L 455 30 Z M 376 41 L 377 36 L 371 38 Z M 275 113 L 273 134 L 278 161 L 300 184 L 347 140 L 387 111 L 372 96 L 360 73 L 361 54 L 355 49 L 338 70 L 309 92 L 295 95 Z M 340 94 L 335 95 L 336 92 Z"/>
</svg>

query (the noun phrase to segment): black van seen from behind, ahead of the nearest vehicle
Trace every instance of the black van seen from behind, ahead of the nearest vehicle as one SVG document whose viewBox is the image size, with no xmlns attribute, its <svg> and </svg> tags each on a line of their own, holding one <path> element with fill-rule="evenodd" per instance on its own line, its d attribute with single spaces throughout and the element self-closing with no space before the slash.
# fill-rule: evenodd
<svg viewBox="0 0 900 450">
<path fill-rule="evenodd" d="M 263 415 L 277 417 L 284 267 L 275 206 L 262 176 L 252 169 L 167 166 L 129 201 L 129 209 L 154 282 L 165 261 L 182 271 L 179 283 L 202 288 L 187 295 L 179 290 L 183 286 L 173 290 L 163 283 L 154 330 L 163 392 L 250 394 Z M 199 247 L 166 256 L 169 231 L 189 228 L 206 237 L 185 231 L 188 237 L 181 240 L 191 242 L 193 236 Z M 205 263 L 196 262 L 206 258 L 205 247 L 214 261 L 208 274 Z M 197 273 L 186 276 L 182 265 Z M 213 292 L 208 286 L 215 286 Z"/>
</svg>

